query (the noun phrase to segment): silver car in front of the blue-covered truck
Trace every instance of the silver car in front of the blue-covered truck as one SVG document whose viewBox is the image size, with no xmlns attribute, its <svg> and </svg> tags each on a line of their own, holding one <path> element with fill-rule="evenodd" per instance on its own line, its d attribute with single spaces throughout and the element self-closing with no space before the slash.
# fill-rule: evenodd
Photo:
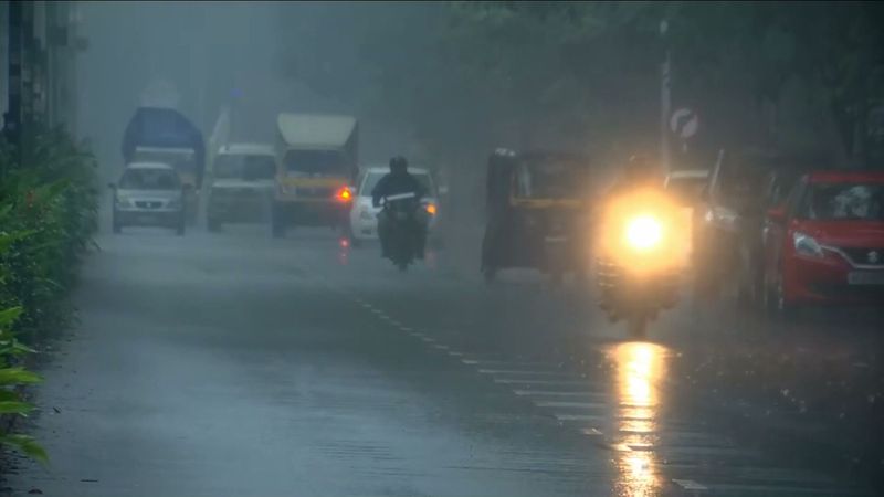
<svg viewBox="0 0 884 497">
<path fill-rule="evenodd" d="M 175 168 L 164 162 L 131 162 L 118 183 L 109 183 L 114 191 L 113 229 L 123 226 L 159 225 L 173 228 L 185 234 L 185 194 L 192 188 L 181 186 Z"/>
</svg>

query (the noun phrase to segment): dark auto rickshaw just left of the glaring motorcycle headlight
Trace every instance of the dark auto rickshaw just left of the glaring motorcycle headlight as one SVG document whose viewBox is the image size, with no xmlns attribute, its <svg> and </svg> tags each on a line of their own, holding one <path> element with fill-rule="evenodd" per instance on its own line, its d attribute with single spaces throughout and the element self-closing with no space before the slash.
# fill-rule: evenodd
<svg viewBox="0 0 884 497">
<path fill-rule="evenodd" d="M 537 268 L 560 283 L 589 269 L 589 161 L 582 155 L 498 149 L 488 159 L 486 282 L 504 268 Z"/>
</svg>

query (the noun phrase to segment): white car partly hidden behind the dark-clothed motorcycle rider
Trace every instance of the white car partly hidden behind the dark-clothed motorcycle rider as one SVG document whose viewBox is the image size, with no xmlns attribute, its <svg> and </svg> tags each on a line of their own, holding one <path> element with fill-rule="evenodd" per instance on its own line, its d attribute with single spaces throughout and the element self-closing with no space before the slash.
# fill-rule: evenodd
<svg viewBox="0 0 884 497">
<path fill-rule="evenodd" d="M 378 213 L 381 208 L 371 205 L 371 190 L 388 172 L 390 172 L 388 166 L 369 166 L 359 172 L 359 177 L 356 180 L 352 209 L 350 209 L 350 243 L 352 245 L 358 245 L 365 241 L 378 240 Z M 410 167 L 408 172 L 415 177 L 429 192 L 423 198 L 423 202 L 427 212 L 430 213 L 428 240 L 432 241 L 436 237 L 434 235 L 439 218 L 439 195 L 435 183 L 427 169 Z"/>
</svg>

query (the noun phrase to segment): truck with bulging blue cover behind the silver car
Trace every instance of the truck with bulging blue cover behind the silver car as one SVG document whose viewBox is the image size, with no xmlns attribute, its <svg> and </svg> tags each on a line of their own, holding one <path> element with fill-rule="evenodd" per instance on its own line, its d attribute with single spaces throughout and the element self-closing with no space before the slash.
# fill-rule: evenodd
<svg viewBox="0 0 884 497">
<path fill-rule="evenodd" d="M 197 219 L 199 191 L 206 169 L 202 133 L 173 108 L 138 107 L 123 135 L 123 159 L 131 162 L 165 162 L 172 166 L 183 186 L 189 186 L 186 213 Z"/>
</svg>

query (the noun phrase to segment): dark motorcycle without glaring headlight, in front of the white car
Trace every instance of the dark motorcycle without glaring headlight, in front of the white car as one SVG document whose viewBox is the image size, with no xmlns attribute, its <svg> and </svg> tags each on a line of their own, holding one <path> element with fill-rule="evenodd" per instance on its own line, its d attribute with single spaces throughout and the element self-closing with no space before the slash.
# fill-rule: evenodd
<svg viewBox="0 0 884 497">
<path fill-rule="evenodd" d="M 389 223 L 389 258 L 404 272 L 421 250 L 423 204 L 415 200 L 414 193 L 400 193 L 383 198 L 382 205 L 381 215 Z"/>
</svg>

